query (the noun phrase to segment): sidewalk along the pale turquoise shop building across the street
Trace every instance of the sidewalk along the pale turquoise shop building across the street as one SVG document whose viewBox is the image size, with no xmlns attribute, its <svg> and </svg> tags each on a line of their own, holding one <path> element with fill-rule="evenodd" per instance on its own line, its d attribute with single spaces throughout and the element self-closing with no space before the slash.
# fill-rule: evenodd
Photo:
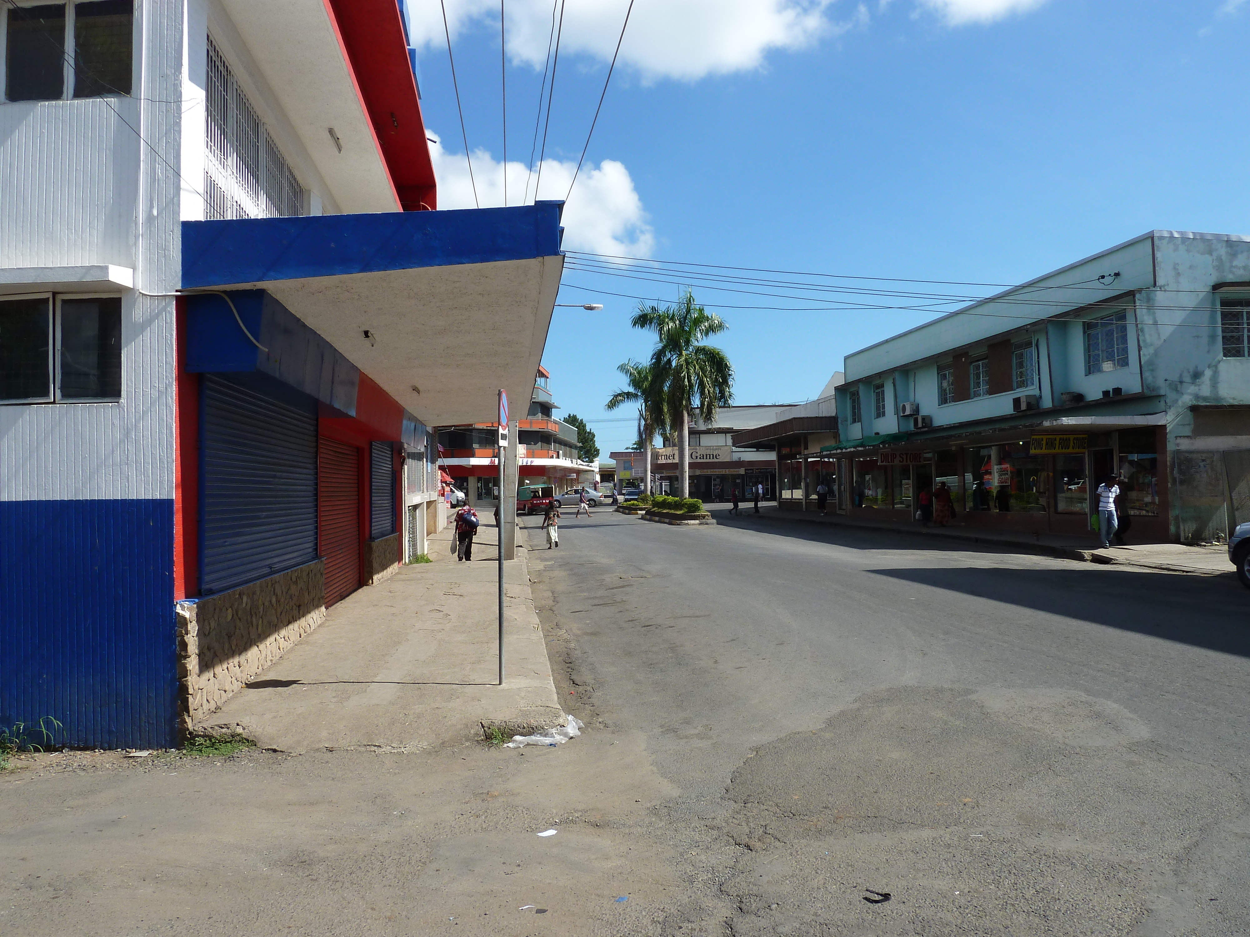
<svg viewBox="0 0 1250 937">
<path fill-rule="evenodd" d="M 705 505 L 714 517 L 724 518 L 729 505 Z M 774 505 L 761 505 L 760 513 L 754 513 L 748 505 L 741 510 L 745 522 L 836 525 L 861 530 L 884 530 L 896 533 L 910 533 L 922 537 L 936 537 L 948 541 L 982 543 L 1009 550 L 1024 550 L 1031 553 L 1059 556 L 1065 560 L 1096 562 L 1106 565 L 1139 566 L 1148 570 L 1166 572 L 1185 572 L 1198 576 L 1235 576 L 1236 571 L 1229 562 L 1226 547 L 1222 545 L 1188 546 L 1184 543 L 1135 543 L 1112 546 L 1101 550 L 1098 538 L 1091 533 L 1086 537 L 1059 533 L 1021 533 L 1015 531 L 995 531 L 981 527 L 966 527 L 958 521 L 948 527 L 924 527 L 916 522 L 870 520 L 829 513 L 824 517 L 816 511 L 781 510 Z"/>
</svg>

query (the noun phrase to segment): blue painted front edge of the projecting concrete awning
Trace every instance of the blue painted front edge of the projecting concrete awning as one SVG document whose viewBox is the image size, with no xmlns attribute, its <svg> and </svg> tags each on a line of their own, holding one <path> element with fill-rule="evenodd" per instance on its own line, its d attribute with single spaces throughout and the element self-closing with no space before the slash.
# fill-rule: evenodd
<svg viewBox="0 0 1250 937">
<path fill-rule="evenodd" d="M 551 257 L 561 209 L 184 221 L 182 289 Z"/>
</svg>

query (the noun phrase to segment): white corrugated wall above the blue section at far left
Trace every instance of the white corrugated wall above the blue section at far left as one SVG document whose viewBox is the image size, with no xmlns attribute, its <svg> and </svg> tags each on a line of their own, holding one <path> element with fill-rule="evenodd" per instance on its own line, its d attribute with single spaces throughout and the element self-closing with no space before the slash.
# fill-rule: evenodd
<svg viewBox="0 0 1250 937">
<path fill-rule="evenodd" d="M 136 4 L 136 96 L 0 104 L 0 266 L 116 264 L 140 290 L 179 286 L 181 12 Z M 121 402 L 0 406 L 0 500 L 172 496 L 174 300 L 131 290 Z"/>
</svg>

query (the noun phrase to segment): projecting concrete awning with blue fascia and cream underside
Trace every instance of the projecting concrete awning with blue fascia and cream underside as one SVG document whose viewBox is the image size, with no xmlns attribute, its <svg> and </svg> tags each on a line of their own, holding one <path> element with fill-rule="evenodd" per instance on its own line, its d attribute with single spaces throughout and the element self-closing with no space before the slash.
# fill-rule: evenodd
<svg viewBox="0 0 1250 937">
<path fill-rule="evenodd" d="M 534 389 L 560 209 L 184 221 L 182 289 L 265 290 L 426 425 L 491 421 Z"/>
</svg>

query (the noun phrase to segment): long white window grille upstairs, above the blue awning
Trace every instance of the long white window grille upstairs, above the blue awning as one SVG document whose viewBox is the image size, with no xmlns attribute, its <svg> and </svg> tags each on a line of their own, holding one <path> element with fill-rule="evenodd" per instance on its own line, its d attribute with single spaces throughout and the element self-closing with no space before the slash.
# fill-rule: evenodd
<svg viewBox="0 0 1250 937">
<path fill-rule="evenodd" d="M 288 217 L 304 214 L 304 189 L 209 39 L 208 160 L 204 217 Z"/>
</svg>

